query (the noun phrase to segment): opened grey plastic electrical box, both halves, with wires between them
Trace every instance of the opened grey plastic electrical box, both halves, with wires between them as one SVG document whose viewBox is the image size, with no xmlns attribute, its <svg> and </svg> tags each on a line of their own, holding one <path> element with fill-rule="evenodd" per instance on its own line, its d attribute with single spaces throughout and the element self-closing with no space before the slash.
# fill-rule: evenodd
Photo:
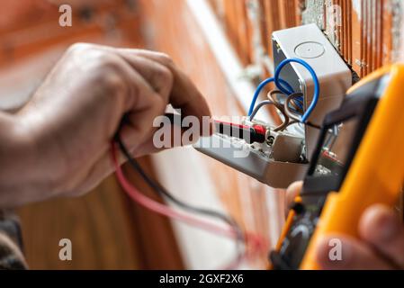
<svg viewBox="0 0 404 288">
<path fill-rule="evenodd" d="M 319 102 L 309 121 L 321 125 L 328 112 L 339 108 L 352 85 L 351 70 L 315 24 L 275 31 L 273 47 L 274 67 L 286 58 L 301 58 L 316 72 Z M 290 63 L 283 67 L 280 77 L 292 85 L 295 92 L 303 94 L 303 108 L 307 110 L 314 96 L 310 72 L 299 63 Z M 209 138 L 200 139 L 194 148 L 274 188 L 286 188 L 303 180 L 317 145 L 319 130 L 299 124 L 278 131 L 268 123 L 247 118 L 238 124 L 247 131 L 250 127 L 261 126 L 265 130 L 265 140 L 250 143 L 231 133 L 224 135 L 226 133 L 217 131 Z"/>
</svg>

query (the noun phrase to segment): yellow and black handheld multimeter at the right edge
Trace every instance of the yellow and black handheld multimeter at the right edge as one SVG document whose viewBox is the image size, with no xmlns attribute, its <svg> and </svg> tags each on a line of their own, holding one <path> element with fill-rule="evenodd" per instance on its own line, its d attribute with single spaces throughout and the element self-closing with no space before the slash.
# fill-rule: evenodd
<svg viewBox="0 0 404 288">
<path fill-rule="evenodd" d="M 326 116 L 310 169 L 276 251 L 274 269 L 318 269 L 323 235 L 358 237 L 366 208 L 393 207 L 404 182 L 404 65 L 374 72 Z"/>
</svg>

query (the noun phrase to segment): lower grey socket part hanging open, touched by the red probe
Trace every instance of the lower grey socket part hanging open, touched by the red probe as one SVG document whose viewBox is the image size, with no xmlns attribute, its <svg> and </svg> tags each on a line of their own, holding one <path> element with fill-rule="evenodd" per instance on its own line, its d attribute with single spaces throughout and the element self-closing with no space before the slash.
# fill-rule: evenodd
<svg viewBox="0 0 404 288">
<path fill-rule="evenodd" d="M 264 143 L 249 144 L 215 133 L 201 138 L 193 147 L 274 188 L 286 188 L 303 179 L 309 168 L 301 161 L 304 139 L 288 132 L 274 132 L 270 127 L 266 135 Z"/>
</svg>

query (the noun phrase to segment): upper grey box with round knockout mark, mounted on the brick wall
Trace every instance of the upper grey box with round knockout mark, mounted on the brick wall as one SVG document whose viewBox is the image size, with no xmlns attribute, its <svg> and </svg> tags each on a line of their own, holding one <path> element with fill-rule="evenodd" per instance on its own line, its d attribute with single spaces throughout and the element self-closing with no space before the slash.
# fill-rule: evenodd
<svg viewBox="0 0 404 288">
<path fill-rule="evenodd" d="M 328 112 L 341 105 L 346 91 L 352 85 L 352 72 L 337 50 L 316 24 L 309 24 L 282 31 L 274 31 L 274 67 L 285 58 L 301 58 L 316 72 L 319 78 L 319 103 L 311 113 L 309 121 L 320 126 Z M 304 95 L 304 109 L 311 103 L 314 85 L 310 72 L 298 63 L 290 63 L 283 68 L 280 76 L 292 85 L 295 92 Z M 292 130 L 290 130 L 292 131 Z M 294 129 L 304 133 L 307 158 L 310 159 L 319 138 L 319 130 L 306 126 Z"/>
</svg>

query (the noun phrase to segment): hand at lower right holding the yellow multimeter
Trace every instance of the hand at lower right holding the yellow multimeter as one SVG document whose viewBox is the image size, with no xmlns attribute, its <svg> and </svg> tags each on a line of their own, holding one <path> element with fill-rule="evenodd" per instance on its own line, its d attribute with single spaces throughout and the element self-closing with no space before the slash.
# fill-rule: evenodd
<svg viewBox="0 0 404 288">
<path fill-rule="evenodd" d="M 292 203 L 300 193 L 302 183 L 292 184 L 287 190 L 287 201 Z M 404 269 L 404 226 L 394 211 L 383 205 L 373 205 L 364 211 L 359 223 L 361 239 L 344 235 L 328 235 L 317 247 L 319 266 L 327 270 Z M 338 238 L 342 243 L 342 260 L 331 261 L 328 243 Z"/>
</svg>

